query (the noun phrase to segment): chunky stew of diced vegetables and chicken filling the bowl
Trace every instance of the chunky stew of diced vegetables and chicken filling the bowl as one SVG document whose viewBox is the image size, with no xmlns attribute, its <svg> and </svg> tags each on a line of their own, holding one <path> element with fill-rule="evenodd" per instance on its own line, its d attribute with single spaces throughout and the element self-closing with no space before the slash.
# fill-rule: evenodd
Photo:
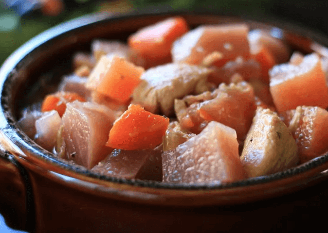
<svg viewBox="0 0 328 233">
<path fill-rule="evenodd" d="M 245 23 L 167 18 L 127 43 L 95 39 L 57 91 L 22 112 L 41 147 L 91 171 L 165 183 L 234 182 L 328 150 L 328 56 Z"/>
</svg>

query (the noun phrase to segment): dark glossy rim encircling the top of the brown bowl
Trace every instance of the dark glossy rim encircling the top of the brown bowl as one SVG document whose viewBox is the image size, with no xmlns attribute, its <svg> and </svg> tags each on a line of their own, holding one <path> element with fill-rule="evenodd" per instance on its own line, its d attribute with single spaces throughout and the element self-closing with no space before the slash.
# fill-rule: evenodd
<svg viewBox="0 0 328 233">
<path fill-rule="evenodd" d="M 183 190 L 201 190 L 201 189 L 224 189 L 224 188 L 233 188 L 241 187 L 248 185 L 255 185 L 261 183 L 269 183 L 276 180 L 280 180 L 287 177 L 292 177 L 297 174 L 309 171 L 311 168 L 320 166 L 328 161 L 328 154 L 324 154 L 315 159 L 310 160 L 302 165 L 292 167 L 290 169 L 284 170 L 282 172 L 277 172 L 271 175 L 248 178 L 246 180 L 241 180 L 232 183 L 192 183 L 192 184 L 176 184 L 176 183 L 161 183 L 154 181 L 142 181 L 134 179 L 124 179 L 116 178 L 105 175 L 100 175 L 95 172 L 91 172 L 82 166 L 72 166 L 64 161 L 59 160 L 54 157 L 52 153 L 47 150 L 39 147 L 33 140 L 31 140 L 25 133 L 23 133 L 15 120 L 12 110 L 10 108 L 10 93 L 8 88 L 11 85 L 10 78 L 13 76 L 14 71 L 19 70 L 23 66 L 24 60 L 26 57 L 37 50 L 40 46 L 46 46 L 51 43 L 52 40 L 58 37 L 65 37 L 67 34 L 84 28 L 86 30 L 88 27 L 95 26 L 102 23 L 110 23 L 115 20 L 129 19 L 133 17 L 150 17 L 150 16 L 164 16 L 164 15 L 208 15 L 208 16 L 220 16 L 220 17 L 236 17 L 240 18 L 242 21 L 253 21 L 258 23 L 264 23 L 282 29 L 283 31 L 292 31 L 294 34 L 299 34 L 310 38 L 311 40 L 324 44 L 328 46 L 328 37 L 315 32 L 307 27 L 286 23 L 282 20 L 277 20 L 276 18 L 269 18 L 269 20 L 259 20 L 261 17 L 249 17 L 249 16 L 236 16 L 232 14 L 220 13 L 220 12 L 211 12 L 211 11 L 195 11 L 195 10 L 176 10 L 172 11 L 171 9 L 155 9 L 147 12 L 145 11 L 135 11 L 128 12 L 127 14 L 118 14 L 110 15 L 108 13 L 97 13 L 91 14 L 83 17 L 79 17 L 62 24 L 59 24 L 53 28 L 50 28 L 43 33 L 40 33 L 27 41 L 25 44 L 20 46 L 15 52 L 13 52 L 8 59 L 2 64 L 0 68 L 0 87 L 1 87 L 1 110 L 0 110 L 0 130 L 7 135 L 7 137 L 18 147 L 22 147 L 26 150 L 31 151 L 33 156 L 36 156 L 37 159 L 43 160 L 51 165 L 63 168 L 70 172 L 75 172 L 90 178 L 99 179 L 102 181 L 108 181 L 113 183 L 123 183 L 134 186 L 141 187 L 151 187 L 151 188 L 164 188 L 164 189 L 183 189 Z M 268 17 L 264 17 L 268 18 Z M 262 18 L 263 19 L 263 18 Z M 3 122 L 5 120 L 5 122 Z"/>
</svg>

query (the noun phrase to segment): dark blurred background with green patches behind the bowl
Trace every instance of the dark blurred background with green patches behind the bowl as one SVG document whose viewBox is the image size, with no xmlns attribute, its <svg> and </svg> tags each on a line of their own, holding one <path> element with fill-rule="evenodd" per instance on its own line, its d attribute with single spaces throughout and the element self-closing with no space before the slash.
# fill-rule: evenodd
<svg viewBox="0 0 328 233">
<path fill-rule="evenodd" d="M 28 10 L 32 3 L 36 4 Z M 150 7 L 272 16 L 328 34 L 326 0 L 1 0 L 0 64 L 28 39 L 63 21 L 103 10 L 126 12 Z"/>
</svg>

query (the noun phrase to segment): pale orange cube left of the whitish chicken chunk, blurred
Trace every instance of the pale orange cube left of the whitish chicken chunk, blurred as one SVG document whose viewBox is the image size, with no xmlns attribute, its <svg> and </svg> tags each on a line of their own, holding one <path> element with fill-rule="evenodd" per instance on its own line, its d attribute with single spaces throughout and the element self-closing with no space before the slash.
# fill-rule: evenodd
<svg viewBox="0 0 328 233">
<path fill-rule="evenodd" d="M 87 87 L 125 103 L 140 83 L 144 71 L 143 67 L 136 67 L 125 58 L 103 56 L 89 76 Z"/>
</svg>

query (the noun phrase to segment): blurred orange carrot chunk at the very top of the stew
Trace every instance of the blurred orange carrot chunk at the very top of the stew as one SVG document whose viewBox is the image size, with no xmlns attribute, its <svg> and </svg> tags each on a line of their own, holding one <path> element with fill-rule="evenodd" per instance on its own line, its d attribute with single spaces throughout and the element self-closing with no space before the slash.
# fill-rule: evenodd
<svg viewBox="0 0 328 233">
<path fill-rule="evenodd" d="M 146 59 L 159 60 L 170 56 L 173 41 L 188 30 L 184 18 L 168 18 L 132 34 L 128 45 Z"/>
</svg>

